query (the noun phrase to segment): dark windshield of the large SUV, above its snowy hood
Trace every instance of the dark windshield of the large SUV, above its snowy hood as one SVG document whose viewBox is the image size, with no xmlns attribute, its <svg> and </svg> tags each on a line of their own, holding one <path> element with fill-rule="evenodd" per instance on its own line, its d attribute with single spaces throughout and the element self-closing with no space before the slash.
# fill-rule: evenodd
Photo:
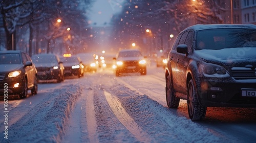
<svg viewBox="0 0 256 143">
<path fill-rule="evenodd" d="M 256 47 L 256 30 L 252 29 L 202 30 L 197 37 L 196 50 Z"/>
</svg>

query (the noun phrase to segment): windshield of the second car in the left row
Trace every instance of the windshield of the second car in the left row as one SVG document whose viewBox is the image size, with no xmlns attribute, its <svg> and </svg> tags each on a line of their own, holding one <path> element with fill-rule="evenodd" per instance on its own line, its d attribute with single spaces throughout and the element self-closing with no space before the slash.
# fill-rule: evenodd
<svg viewBox="0 0 256 143">
<path fill-rule="evenodd" d="M 53 55 L 39 55 L 32 56 L 32 61 L 34 63 L 56 63 L 57 59 Z"/>
</svg>

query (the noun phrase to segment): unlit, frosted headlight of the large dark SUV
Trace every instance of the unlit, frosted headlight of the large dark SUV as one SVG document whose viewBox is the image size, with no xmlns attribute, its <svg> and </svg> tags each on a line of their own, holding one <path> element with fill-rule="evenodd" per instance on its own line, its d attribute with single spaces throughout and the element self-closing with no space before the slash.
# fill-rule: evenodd
<svg viewBox="0 0 256 143">
<path fill-rule="evenodd" d="M 226 69 L 217 64 L 202 63 L 200 64 L 200 71 L 205 77 L 225 78 L 229 77 Z"/>
</svg>

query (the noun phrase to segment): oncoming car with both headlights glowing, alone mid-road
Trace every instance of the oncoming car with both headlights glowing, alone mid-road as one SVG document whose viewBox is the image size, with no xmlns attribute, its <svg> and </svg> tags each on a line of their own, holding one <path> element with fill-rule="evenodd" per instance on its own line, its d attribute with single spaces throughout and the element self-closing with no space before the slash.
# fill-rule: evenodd
<svg viewBox="0 0 256 143">
<path fill-rule="evenodd" d="M 116 76 L 123 73 L 140 73 L 146 75 L 146 57 L 143 57 L 139 50 L 121 50 L 116 60 Z"/>
</svg>

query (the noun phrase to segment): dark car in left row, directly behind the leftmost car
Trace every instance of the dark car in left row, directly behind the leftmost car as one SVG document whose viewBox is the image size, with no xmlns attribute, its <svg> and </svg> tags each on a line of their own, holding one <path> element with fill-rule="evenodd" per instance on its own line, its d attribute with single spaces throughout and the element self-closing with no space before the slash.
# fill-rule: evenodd
<svg viewBox="0 0 256 143">
<path fill-rule="evenodd" d="M 38 54 L 31 58 L 36 66 L 38 80 L 64 80 L 64 66 L 57 55 Z"/>
</svg>

